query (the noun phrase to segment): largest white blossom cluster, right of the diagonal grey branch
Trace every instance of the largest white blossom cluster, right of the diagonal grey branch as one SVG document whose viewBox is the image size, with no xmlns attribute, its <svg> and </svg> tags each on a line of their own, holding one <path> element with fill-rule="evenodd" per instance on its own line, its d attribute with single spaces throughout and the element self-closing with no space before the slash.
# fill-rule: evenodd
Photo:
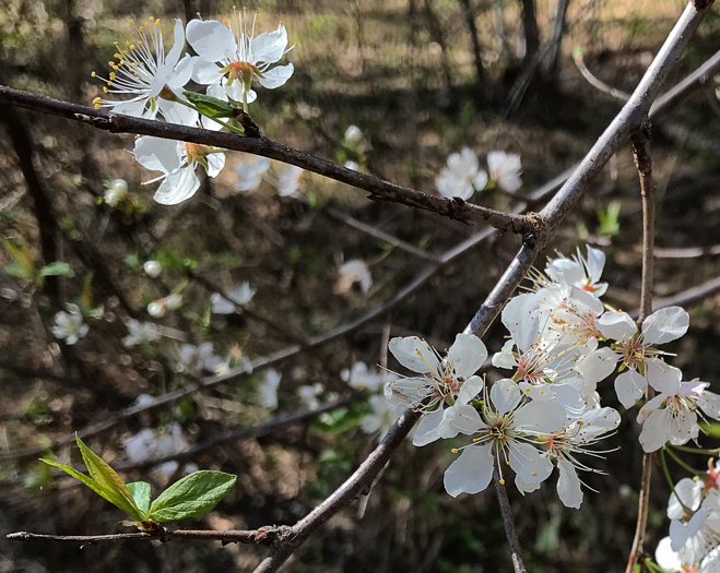
<svg viewBox="0 0 720 573">
<path fill-rule="evenodd" d="M 638 329 L 625 312 L 606 311 L 600 297 L 604 254 L 559 255 L 545 272 L 534 272 L 534 288 L 512 298 L 501 321 L 509 337 L 492 358 L 510 373 L 489 385 L 476 375 L 487 358 L 475 336 L 459 334 L 445 358 L 417 337 L 393 338 L 390 351 L 414 377 L 393 377 L 385 387 L 393 404 L 423 414 L 413 443 L 472 437 L 453 449 L 460 456 L 445 474 L 456 497 L 484 490 L 498 469 L 509 465 L 521 492 L 538 489 L 557 468 L 563 503 L 582 502 L 578 470 L 601 473 L 579 454 L 601 457 L 591 446 L 612 434 L 619 414 L 601 407 L 597 385 L 616 369 L 615 391 L 630 408 L 648 385 L 659 392 L 638 415 L 646 452 L 666 442 L 682 444 L 698 435 L 697 410 L 720 417 L 720 397 L 705 382 L 682 382 L 682 373 L 664 362 L 659 346 L 681 337 L 689 318 L 678 307 L 661 309 Z"/>
</svg>

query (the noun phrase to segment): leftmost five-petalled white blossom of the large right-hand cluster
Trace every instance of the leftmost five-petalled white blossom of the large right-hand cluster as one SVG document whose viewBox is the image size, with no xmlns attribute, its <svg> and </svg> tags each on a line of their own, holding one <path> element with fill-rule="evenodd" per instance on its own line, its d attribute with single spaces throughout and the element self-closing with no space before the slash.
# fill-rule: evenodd
<svg viewBox="0 0 720 573">
<path fill-rule="evenodd" d="M 385 385 L 385 397 L 398 407 L 415 408 L 424 417 L 415 431 L 414 445 L 425 445 L 441 438 L 444 406 L 468 404 L 483 389 L 482 378 L 474 375 L 487 358 L 483 342 L 472 334 L 458 334 L 445 358 L 417 336 L 392 338 L 390 351 L 418 377 L 394 374 Z"/>
</svg>

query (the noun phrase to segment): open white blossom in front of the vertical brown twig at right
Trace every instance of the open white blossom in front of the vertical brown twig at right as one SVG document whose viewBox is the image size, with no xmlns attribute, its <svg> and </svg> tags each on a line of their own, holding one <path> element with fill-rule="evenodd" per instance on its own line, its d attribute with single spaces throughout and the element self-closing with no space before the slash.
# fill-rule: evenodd
<svg viewBox="0 0 720 573">
<path fill-rule="evenodd" d="M 638 331 L 626 312 L 605 312 L 595 322 L 600 333 L 614 342 L 607 357 L 619 361 L 619 370 L 628 368 L 615 379 L 617 398 L 626 408 L 632 407 L 645 393 L 648 383 L 656 390 L 672 386 L 681 381 L 682 372 L 662 359 L 656 348 L 680 338 L 687 332 L 689 315 L 680 307 L 668 307 L 650 314 Z"/>
</svg>

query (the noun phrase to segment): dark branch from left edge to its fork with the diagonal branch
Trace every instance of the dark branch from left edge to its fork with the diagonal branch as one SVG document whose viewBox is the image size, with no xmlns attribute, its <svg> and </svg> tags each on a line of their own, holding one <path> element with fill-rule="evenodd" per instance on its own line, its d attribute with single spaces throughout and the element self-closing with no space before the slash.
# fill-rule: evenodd
<svg viewBox="0 0 720 573">
<path fill-rule="evenodd" d="M 501 213 L 493 208 L 467 203 L 462 199 L 444 199 L 421 191 L 390 183 L 376 177 L 346 169 L 308 153 L 286 147 L 264 138 L 241 136 L 234 133 L 220 133 L 175 123 L 162 123 L 147 119 L 132 118 L 119 114 L 108 114 L 92 107 L 68 104 L 49 97 L 36 96 L 12 87 L 0 86 L 0 104 L 10 104 L 44 114 L 64 117 L 88 123 L 94 128 L 113 133 L 137 133 L 168 140 L 213 145 L 237 152 L 262 155 L 308 171 L 322 175 L 335 181 L 347 183 L 369 193 L 375 201 L 389 201 L 403 205 L 432 211 L 463 223 L 483 223 L 512 232 L 526 232 L 531 226 L 522 215 Z"/>
</svg>

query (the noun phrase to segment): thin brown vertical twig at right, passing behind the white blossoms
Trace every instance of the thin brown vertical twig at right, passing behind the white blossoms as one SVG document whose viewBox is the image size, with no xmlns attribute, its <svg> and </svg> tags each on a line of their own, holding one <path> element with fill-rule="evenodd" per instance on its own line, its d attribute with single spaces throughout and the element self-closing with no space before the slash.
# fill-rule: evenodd
<svg viewBox="0 0 720 573">
<path fill-rule="evenodd" d="M 642 284 L 640 289 L 640 324 L 652 312 L 652 283 L 654 275 L 654 183 L 652 181 L 652 156 L 650 155 L 650 123 L 645 121 L 640 128 L 630 135 L 633 143 L 633 157 L 640 179 L 640 194 L 642 196 Z M 646 386 L 645 397 L 653 397 L 654 390 L 650 384 Z M 642 454 L 642 473 L 640 475 L 640 493 L 638 497 L 638 517 L 635 528 L 633 548 L 627 561 L 625 573 L 633 573 L 637 563 L 644 558 L 645 534 L 648 525 L 648 511 L 650 509 L 650 481 L 652 478 L 652 453 Z"/>
</svg>

